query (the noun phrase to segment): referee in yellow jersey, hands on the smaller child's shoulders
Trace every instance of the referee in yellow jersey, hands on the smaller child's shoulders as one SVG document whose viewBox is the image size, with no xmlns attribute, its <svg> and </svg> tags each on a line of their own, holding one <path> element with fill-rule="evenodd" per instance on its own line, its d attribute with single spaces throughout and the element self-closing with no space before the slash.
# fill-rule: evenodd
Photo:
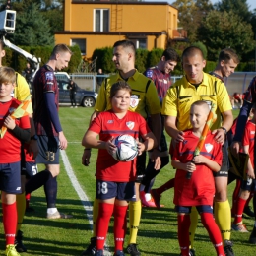
<svg viewBox="0 0 256 256">
<path fill-rule="evenodd" d="M 182 131 L 191 128 L 189 110 L 192 103 L 197 100 L 205 100 L 209 104 L 216 105 L 217 121 L 212 130 L 215 140 L 223 144 L 223 163 L 221 170 L 214 172 L 216 185 L 214 213 L 223 235 L 225 253 L 232 256 L 231 214 L 227 200 L 227 142 L 225 141 L 226 132 L 233 122 L 232 107 L 224 83 L 203 72 L 206 61 L 201 49 L 195 46 L 186 48 L 182 53 L 181 60 L 185 76 L 168 89 L 162 104 L 161 113 L 165 115 L 165 130 L 174 142 L 183 141 Z M 195 216 L 197 220 L 197 214 Z M 196 225 L 196 222 L 192 221 L 191 224 Z M 193 246 L 193 236 L 190 237 L 190 241 Z"/>
</svg>

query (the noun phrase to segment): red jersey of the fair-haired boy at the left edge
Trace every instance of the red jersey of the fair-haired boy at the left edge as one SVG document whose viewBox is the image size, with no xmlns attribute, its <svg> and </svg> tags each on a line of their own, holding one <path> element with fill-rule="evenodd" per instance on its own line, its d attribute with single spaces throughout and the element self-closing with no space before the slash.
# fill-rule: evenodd
<svg viewBox="0 0 256 256">
<path fill-rule="evenodd" d="M 12 98 L 8 102 L 0 102 L 0 128 L 5 118 L 12 113 L 21 102 Z M 16 125 L 22 129 L 30 129 L 29 115 L 15 119 Z M 0 139 L 0 163 L 12 163 L 21 160 L 21 142 L 7 129 L 4 137 Z"/>
</svg>

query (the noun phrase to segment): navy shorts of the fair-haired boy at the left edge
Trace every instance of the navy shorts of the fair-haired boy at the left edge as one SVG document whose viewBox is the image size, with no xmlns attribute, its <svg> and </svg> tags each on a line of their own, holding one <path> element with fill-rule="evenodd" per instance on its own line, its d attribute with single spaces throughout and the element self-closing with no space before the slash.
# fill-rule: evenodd
<svg viewBox="0 0 256 256">
<path fill-rule="evenodd" d="M 21 194 L 21 162 L 0 163 L 0 190 L 8 194 Z"/>
</svg>

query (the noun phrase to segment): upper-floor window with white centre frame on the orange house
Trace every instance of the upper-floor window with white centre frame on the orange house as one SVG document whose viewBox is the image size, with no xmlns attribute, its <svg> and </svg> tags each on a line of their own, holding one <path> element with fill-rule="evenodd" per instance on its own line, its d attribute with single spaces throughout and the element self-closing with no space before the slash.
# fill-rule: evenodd
<svg viewBox="0 0 256 256">
<path fill-rule="evenodd" d="M 109 32 L 108 9 L 95 9 L 95 32 Z"/>
</svg>

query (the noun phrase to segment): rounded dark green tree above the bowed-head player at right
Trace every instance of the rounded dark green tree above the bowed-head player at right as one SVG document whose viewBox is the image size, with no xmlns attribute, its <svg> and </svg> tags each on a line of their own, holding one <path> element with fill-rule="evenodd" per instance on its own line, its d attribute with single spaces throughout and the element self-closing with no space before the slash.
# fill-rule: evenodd
<svg viewBox="0 0 256 256">
<path fill-rule="evenodd" d="M 233 12 L 210 12 L 199 28 L 199 39 L 207 46 L 208 59 L 214 61 L 226 47 L 240 56 L 255 48 L 252 26 Z"/>
</svg>

